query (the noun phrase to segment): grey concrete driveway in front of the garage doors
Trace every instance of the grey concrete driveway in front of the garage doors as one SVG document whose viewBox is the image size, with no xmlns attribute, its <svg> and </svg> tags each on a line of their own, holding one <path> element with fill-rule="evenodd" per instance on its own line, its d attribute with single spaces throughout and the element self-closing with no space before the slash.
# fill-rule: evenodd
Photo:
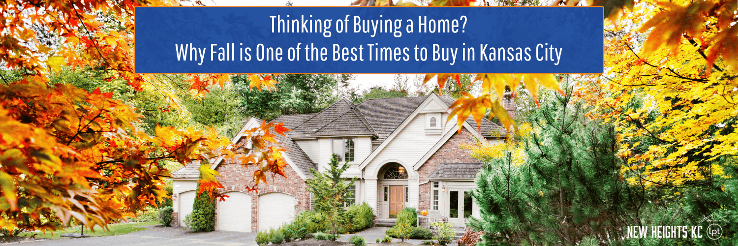
<svg viewBox="0 0 738 246">
<path fill-rule="evenodd" d="M 69 245 L 69 246 L 165 246 L 165 245 L 256 245 L 256 233 L 216 230 L 206 233 L 193 233 L 182 228 L 157 228 L 141 230 L 119 236 L 97 236 L 83 239 L 55 239 L 35 242 L 22 242 L 19 246 L 31 245 Z"/>
</svg>

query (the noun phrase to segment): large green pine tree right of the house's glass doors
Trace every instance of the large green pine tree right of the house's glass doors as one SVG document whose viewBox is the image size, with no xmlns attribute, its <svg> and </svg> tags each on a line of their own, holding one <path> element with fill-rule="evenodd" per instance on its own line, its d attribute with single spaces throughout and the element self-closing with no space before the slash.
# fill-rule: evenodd
<svg viewBox="0 0 738 246">
<path fill-rule="evenodd" d="M 481 218 L 472 227 L 488 232 L 482 245 L 609 241 L 637 225 L 633 207 L 641 194 L 619 173 L 615 129 L 587 120 L 585 110 L 570 96 L 551 97 L 529 120 L 539 132 L 521 143 L 525 163 L 514 165 L 508 152 L 485 164 L 473 192 Z"/>
</svg>

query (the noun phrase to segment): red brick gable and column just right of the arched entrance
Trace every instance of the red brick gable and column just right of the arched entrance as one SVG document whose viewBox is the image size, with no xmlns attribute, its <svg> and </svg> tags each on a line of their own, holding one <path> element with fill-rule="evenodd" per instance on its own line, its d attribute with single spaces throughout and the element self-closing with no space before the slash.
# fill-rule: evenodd
<svg viewBox="0 0 738 246">
<path fill-rule="evenodd" d="M 472 134 L 466 129 L 461 129 L 461 133 L 455 133 L 449 140 L 444 143 L 438 151 L 425 162 L 418 169 L 420 180 L 420 198 L 418 199 L 418 211 L 427 210 L 432 215 L 435 211 L 430 210 L 430 185 L 428 182 L 428 176 L 430 173 L 438 168 L 438 165 L 442 163 L 479 163 L 479 160 L 470 157 L 471 151 L 461 149 L 459 146 L 461 143 L 471 144 L 474 143 Z M 425 221 L 421 221 L 424 224 Z"/>
</svg>

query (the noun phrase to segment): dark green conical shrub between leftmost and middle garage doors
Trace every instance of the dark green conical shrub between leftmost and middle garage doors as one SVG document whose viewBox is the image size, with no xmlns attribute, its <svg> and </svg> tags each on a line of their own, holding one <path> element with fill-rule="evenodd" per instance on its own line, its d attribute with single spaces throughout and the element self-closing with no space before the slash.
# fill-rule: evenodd
<svg viewBox="0 0 738 246">
<path fill-rule="evenodd" d="M 200 184 L 197 184 L 198 189 Z M 192 213 L 184 217 L 184 225 L 192 231 L 215 230 L 215 201 L 210 194 L 203 192 L 197 194 L 195 203 L 192 205 Z"/>
</svg>

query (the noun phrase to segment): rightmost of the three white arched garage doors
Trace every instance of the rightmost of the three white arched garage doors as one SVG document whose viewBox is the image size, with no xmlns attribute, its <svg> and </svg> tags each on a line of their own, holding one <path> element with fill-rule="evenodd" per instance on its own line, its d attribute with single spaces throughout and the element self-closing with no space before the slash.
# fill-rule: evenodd
<svg viewBox="0 0 738 246">
<path fill-rule="evenodd" d="M 294 197 L 272 193 L 259 197 L 259 231 L 278 228 L 294 219 Z"/>
</svg>

